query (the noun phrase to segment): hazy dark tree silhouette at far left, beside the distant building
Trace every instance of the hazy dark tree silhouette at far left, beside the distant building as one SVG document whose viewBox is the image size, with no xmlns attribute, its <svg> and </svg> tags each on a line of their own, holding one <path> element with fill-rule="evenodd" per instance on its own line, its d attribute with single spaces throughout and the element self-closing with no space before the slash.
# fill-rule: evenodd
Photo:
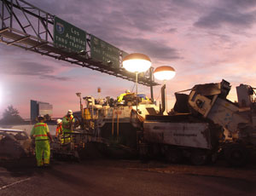
<svg viewBox="0 0 256 196">
<path fill-rule="evenodd" d="M 19 111 L 12 105 L 4 110 L 3 118 L 0 120 L 2 124 L 19 124 L 23 121 L 19 115 Z"/>
</svg>

